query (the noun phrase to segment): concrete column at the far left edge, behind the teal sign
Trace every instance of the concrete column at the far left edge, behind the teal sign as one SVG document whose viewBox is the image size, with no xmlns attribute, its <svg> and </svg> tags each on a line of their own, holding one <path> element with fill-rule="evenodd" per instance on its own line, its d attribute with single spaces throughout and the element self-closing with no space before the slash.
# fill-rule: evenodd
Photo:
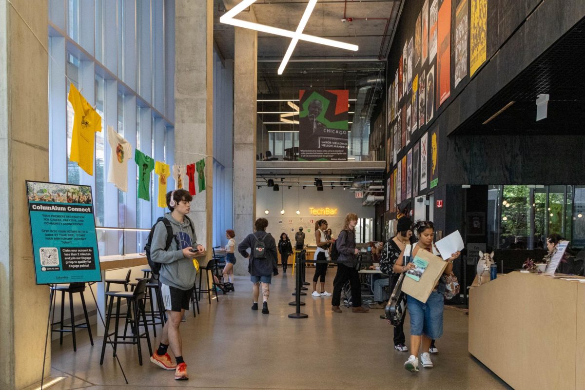
<svg viewBox="0 0 585 390">
<path fill-rule="evenodd" d="M 46 1 L 0 0 L 2 389 L 22 389 L 42 377 L 49 287 L 35 285 L 25 180 L 49 181 L 48 12 Z M 45 375 L 50 356 L 49 348 Z"/>
</svg>

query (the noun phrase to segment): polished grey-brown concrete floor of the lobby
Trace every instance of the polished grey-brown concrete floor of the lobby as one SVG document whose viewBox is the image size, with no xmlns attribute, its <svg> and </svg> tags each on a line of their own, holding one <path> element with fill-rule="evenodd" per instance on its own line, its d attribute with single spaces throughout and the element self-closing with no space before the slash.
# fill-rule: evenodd
<svg viewBox="0 0 585 390">
<path fill-rule="evenodd" d="M 326 289 L 332 291 L 335 268 L 329 268 Z M 312 270 L 307 271 L 307 278 Z M 310 287 L 310 286 L 309 286 Z M 393 348 L 393 328 L 369 313 L 331 312 L 331 297 L 302 296 L 307 319 L 289 319 L 294 277 L 287 272 L 273 278 L 269 315 L 250 306 L 248 277 L 237 277 L 236 292 L 219 295 L 211 305 L 200 302 L 201 314 L 188 312 L 181 324 L 183 356 L 189 381 L 175 381 L 173 371 L 150 363 L 143 341 L 144 364 L 138 364 L 136 346 L 119 346 L 126 385 L 112 348 L 99 365 L 101 335 L 92 347 L 85 330 L 77 334 L 77 352 L 71 337 L 63 345 L 53 341 L 51 374 L 67 377 L 51 389 L 509 389 L 467 352 L 467 316 L 445 310 L 440 353 L 435 367 L 411 374 L 402 367 L 409 353 Z M 309 291 L 310 293 L 310 291 Z M 407 319 L 408 322 L 408 319 Z M 406 326 L 408 336 L 408 325 Z M 408 343 L 407 343 L 408 344 Z M 153 342 L 153 348 L 158 346 Z M 146 351 L 145 351 L 146 350 Z"/>
</svg>

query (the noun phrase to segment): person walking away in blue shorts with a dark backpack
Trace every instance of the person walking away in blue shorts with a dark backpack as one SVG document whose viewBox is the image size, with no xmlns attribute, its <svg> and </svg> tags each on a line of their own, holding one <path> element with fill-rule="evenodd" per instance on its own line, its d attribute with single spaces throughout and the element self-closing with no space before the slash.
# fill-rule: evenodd
<svg viewBox="0 0 585 390">
<path fill-rule="evenodd" d="M 266 233 L 268 220 L 259 218 L 254 222 L 256 228 L 238 245 L 238 252 L 249 258 L 248 272 L 252 281 L 252 310 L 258 310 L 260 284 L 262 285 L 262 314 L 269 314 L 268 297 L 272 275 L 278 275 L 276 241 L 270 233 Z M 248 254 L 247 250 L 250 249 Z"/>
</svg>

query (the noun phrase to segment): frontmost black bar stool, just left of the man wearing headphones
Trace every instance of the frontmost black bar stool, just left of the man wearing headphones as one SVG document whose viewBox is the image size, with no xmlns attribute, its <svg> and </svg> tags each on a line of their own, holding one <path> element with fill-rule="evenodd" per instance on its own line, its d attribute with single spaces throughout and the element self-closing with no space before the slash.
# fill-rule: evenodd
<svg viewBox="0 0 585 390">
<path fill-rule="evenodd" d="M 108 314 L 106 315 L 106 326 L 104 331 L 104 343 L 102 344 L 102 355 L 99 360 L 99 364 L 104 364 L 104 354 L 106 351 L 106 344 L 112 344 L 113 356 L 116 356 L 116 347 L 118 344 L 136 344 L 138 348 L 138 361 L 142 365 L 142 348 L 140 347 L 140 339 L 146 339 L 150 355 L 152 355 L 152 346 L 150 345 L 150 336 L 148 333 L 148 326 L 146 323 L 146 315 L 144 314 L 144 292 L 146 291 L 146 279 L 142 279 L 137 282 L 134 291 L 108 291 L 106 296 L 109 296 Z M 116 313 L 115 317 L 115 329 L 112 333 L 109 332 L 110 321 L 112 320 L 112 308 L 113 300 L 116 298 Z M 118 336 L 119 319 L 120 313 L 120 302 L 122 298 L 128 302 L 128 308 L 132 313 L 132 317 L 126 317 L 126 320 L 130 321 L 130 329 L 132 330 L 132 336 Z M 122 313 L 123 314 L 123 313 Z M 144 333 L 140 333 L 140 317 L 142 317 L 142 326 L 144 327 Z M 109 341 L 108 337 L 113 336 L 113 341 Z M 132 338 L 132 341 L 126 341 L 126 339 Z M 119 341 L 122 339 L 123 341 Z"/>
</svg>

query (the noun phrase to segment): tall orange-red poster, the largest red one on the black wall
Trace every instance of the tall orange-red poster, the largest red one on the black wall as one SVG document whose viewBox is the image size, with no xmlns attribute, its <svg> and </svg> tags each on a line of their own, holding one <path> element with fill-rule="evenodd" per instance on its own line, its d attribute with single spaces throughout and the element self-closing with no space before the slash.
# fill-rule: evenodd
<svg viewBox="0 0 585 390">
<path fill-rule="evenodd" d="M 437 108 L 451 94 L 451 0 L 444 0 L 439 8 L 437 33 Z"/>
</svg>

